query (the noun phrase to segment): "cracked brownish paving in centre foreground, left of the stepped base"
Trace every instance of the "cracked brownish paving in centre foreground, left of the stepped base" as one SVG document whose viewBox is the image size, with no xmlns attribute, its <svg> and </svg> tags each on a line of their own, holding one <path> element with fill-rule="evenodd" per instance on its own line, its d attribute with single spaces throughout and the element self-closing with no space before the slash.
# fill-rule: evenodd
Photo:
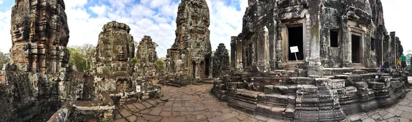
<svg viewBox="0 0 412 122">
<path fill-rule="evenodd" d="M 260 121 L 218 101 L 209 94 L 211 87 L 212 84 L 162 86 L 160 99 L 117 106 L 113 121 Z"/>
</svg>

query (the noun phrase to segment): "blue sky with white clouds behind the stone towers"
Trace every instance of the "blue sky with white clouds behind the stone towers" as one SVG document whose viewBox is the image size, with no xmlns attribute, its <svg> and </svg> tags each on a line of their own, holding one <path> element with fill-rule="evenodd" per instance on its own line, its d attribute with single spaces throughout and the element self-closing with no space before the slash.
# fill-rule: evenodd
<svg viewBox="0 0 412 122">
<path fill-rule="evenodd" d="M 385 25 L 389 32 L 396 31 L 404 49 L 412 49 L 412 34 L 409 12 L 412 1 L 381 0 L 385 13 Z M 174 42 L 176 14 L 180 0 L 66 0 L 66 14 L 70 29 L 69 46 L 90 43 L 96 45 L 104 24 L 118 21 L 130 26 L 135 41 L 144 35 L 152 36 L 159 44 L 159 57 L 166 55 L 166 49 Z M 0 51 L 8 53 L 12 46 L 10 37 L 10 16 L 14 0 L 0 0 Z M 242 16 L 247 0 L 207 0 L 211 24 L 210 40 L 215 50 L 219 43 L 230 49 L 230 36 L 242 32 Z"/>
</svg>

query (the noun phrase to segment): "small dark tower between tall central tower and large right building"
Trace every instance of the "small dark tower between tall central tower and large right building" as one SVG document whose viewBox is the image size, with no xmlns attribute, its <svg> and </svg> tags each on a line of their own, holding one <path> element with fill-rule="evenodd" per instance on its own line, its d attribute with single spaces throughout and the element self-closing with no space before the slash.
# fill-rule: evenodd
<svg viewBox="0 0 412 122">
<path fill-rule="evenodd" d="M 212 58 L 213 77 L 220 77 L 229 73 L 229 51 L 225 44 L 220 43 Z"/>
</svg>

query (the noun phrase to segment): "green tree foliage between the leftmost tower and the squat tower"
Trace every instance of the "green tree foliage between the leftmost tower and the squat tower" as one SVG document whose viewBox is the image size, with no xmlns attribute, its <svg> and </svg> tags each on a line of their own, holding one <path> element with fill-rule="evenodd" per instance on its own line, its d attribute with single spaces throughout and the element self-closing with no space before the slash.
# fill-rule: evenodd
<svg viewBox="0 0 412 122">
<path fill-rule="evenodd" d="M 78 71 L 87 71 L 91 68 L 91 60 L 95 55 L 95 46 L 84 44 L 82 46 L 67 47 L 70 52 L 69 64 L 76 66 Z"/>
</svg>

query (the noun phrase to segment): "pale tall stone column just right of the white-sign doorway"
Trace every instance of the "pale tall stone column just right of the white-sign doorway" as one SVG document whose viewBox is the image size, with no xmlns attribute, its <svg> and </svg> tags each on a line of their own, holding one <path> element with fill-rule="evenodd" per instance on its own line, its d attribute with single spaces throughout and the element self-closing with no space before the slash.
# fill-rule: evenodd
<svg viewBox="0 0 412 122">
<path fill-rule="evenodd" d="M 308 76 L 309 77 L 322 77 L 323 75 L 323 68 L 321 66 L 320 60 L 320 23 L 319 23 L 319 11 L 321 6 L 321 1 L 309 1 L 308 3 L 310 6 L 309 13 L 310 19 L 306 20 L 308 25 L 307 30 L 309 30 L 308 34 L 310 34 L 310 58 L 308 64 Z M 308 17 L 308 16 L 306 16 Z"/>
</svg>

